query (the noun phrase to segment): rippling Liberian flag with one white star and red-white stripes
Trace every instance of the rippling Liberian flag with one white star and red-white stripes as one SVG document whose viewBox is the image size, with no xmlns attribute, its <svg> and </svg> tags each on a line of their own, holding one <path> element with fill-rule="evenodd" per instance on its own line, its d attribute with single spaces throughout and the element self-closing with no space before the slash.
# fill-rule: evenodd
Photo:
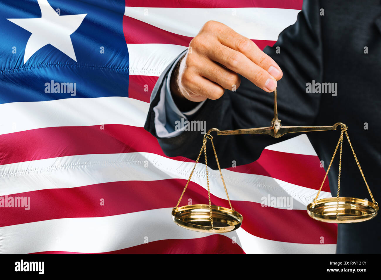
<svg viewBox="0 0 381 280">
<path fill-rule="evenodd" d="M 301 4 L 3 1 L 0 251 L 334 253 L 336 225 L 306 211 L 325 171 L 305 134 L 223 169 L 243 224 L 206 234 L 171 219 L 194 161 L 165 156 L 143 129 L 158 76 L 205 22 L 223 22 L 263 49 Z M 228 206 L 220 180 L 210 171 L 211 202 Z M 327 182 L 320 198 L 330 196 Z M 202 164 L 182 199 L 189 202 L 208 203 Z"/>
</svg>

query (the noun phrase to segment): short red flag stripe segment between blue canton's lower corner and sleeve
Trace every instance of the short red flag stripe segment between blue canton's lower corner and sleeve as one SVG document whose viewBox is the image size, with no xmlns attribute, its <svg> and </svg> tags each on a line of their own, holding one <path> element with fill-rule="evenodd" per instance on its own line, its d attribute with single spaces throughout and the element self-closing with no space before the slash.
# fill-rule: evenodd
<svg viewBox="0 0 381 280">
<path fill-rule="evenodd" d="M 157 79 L 155 76 L 130 75 L 128 97 L 149 103 Z"/>
</svg>

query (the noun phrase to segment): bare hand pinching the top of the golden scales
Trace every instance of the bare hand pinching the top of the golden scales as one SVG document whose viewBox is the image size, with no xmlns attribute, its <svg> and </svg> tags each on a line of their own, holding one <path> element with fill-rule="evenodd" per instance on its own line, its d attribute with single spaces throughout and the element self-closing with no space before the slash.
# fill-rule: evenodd
<svg viewBox="0 0 381 280">
<path fill-rule="evenodd" d="M 209 21 L 189 44 L 176 79 L 171 79 L 171 90 L 191 101 L 217 99 L 224 89 L 240 86 L 238 74 L 266 92 L 273 92 L 283 75 L 253 41 L 221 22 Z"/>
</svg>

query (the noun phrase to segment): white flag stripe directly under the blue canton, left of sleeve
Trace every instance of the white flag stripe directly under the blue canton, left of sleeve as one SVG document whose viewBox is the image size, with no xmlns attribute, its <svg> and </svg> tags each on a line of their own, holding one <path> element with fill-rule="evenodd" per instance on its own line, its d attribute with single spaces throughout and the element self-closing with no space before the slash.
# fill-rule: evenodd
<svg viewBox="0 0 381 280">
<path fill-rule="evenodd" d="M 0 134 L 107 123 L 144 127 L 148 109 L 147 102 L 121 96 L 4 103 L 0 104 Z"/>
</svg>

